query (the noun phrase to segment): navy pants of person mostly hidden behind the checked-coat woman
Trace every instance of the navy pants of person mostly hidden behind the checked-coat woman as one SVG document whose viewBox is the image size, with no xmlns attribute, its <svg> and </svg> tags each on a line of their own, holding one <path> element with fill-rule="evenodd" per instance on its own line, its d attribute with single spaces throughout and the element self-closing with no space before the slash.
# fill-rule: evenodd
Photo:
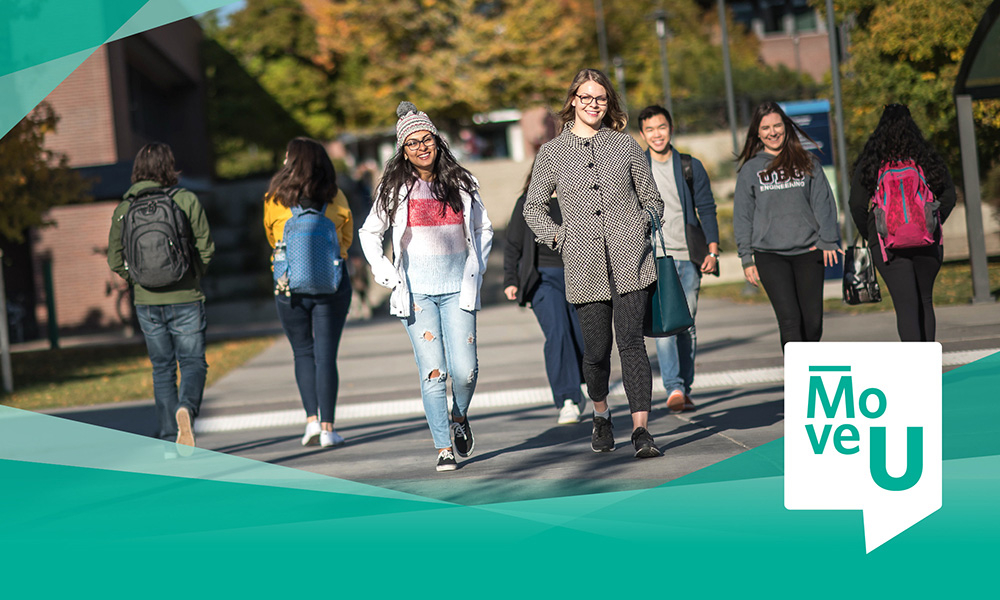
<svg viewBox="0 0 1000 600">
<path fill-rule="evenodd" d="M 541 281 L 531 296 L 531 310 L 545 334 L 545 374 L 552 400 L 556 408 L 562 408 L 566 400 L 581 406 L 583 332 L 576 308 L 566 301 L 565 270 L 540 267 L 538 273 Z"/>
</svg>

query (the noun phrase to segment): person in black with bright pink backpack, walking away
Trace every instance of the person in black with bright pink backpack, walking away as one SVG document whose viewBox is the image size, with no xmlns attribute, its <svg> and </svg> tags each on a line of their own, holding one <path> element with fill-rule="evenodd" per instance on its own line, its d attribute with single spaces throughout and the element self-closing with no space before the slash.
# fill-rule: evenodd
<svg viewBox="0 0 1000 600">
<path fill-rule="evenodd" d="M 955 208 L 955 184 L 906 106 L 885 106 L 854 167 L 850 208 L 892 296 L 899 339 L 934 341 L 941 225 Z"/>
</svg>

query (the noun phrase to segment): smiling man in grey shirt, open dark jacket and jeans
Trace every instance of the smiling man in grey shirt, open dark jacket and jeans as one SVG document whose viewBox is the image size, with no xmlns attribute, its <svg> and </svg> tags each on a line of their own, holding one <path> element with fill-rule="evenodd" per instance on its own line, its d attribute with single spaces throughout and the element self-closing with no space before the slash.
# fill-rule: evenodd
<svg viewBox="0 0 1000 600">
<path fill-rule="evenodd" d="M 662 106 L 647 106 L 639 113 L 639 132 L 649 146 L 653 180 L 663 198 L 661 230 L 667 254 L 673 257 L 688 309 L 698 310 L 702 274 L 719 274 L 719 224 L 715 218 L 708 173 L 701 161 L 675 152 L 670 145 L 674 122 Z M 657 255 L 662 251 L 656 247 Z M 667 390 L 667 408 L 693 410 L 695 327 L 674 336 L 657 338 L 656 355 L 660 377 Z"/>
</svg>

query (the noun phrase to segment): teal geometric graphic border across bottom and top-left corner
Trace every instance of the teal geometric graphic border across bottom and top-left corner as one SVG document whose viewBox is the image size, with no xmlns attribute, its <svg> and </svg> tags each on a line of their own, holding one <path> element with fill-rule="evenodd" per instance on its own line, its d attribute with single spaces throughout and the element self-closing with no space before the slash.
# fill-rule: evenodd
<svg viewBox="0 0 1000 600">
<path fill-rule="evenodd" d="M 0 0 L 0 131 L 100 44 L 227 3 Z M 944 375 L 943 508 L 867 555 L 860 512 L 784 509 L 781 440 L 654 489 L 460 506 L 4 407 L 0 589 L 997 597 L 998 389 L 1000 354 Z"/>
</svg>

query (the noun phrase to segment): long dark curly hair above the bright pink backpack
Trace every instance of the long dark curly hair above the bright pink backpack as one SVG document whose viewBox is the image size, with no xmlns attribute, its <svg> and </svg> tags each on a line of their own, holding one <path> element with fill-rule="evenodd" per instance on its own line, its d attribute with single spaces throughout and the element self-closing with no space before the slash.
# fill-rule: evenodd
<svg viewBox="0 0 1000 600">
<path fill-rule="evenodd" d="M 927 178 L 927 187 L 940 196 L 947 185 L 947 166 L 944 159 L 924 139 L 920 127 L 910 116 L 910 109 L 903 104 L 886 105 L 882 118 L 871 137 L 865 142 L 855 171 L 860 171 L 861 185 L 873 195 L 878 187 L 878 172 L 886 163 L 912 160 L 919 165 Z"/>
</svg>

